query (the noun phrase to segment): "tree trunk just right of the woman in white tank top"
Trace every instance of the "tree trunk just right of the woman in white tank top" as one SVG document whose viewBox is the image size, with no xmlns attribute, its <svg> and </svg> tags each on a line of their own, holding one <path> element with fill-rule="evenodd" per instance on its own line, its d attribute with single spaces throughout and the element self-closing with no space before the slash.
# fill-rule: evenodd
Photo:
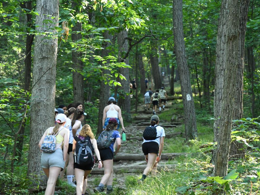
<svg viewBox="0 0 260 195">
<path fill-rule="evenodd" d="M 126 53 L 128 50 L 128 41 L 125 37 L 128 36 L 128 32 L 126 30 L 120 31 L 117 35 L 117 42 L 118 42 L 118 61 L 121 62 L 123 53 Z M 126 64 L 129 64 L 128 57 L 124 61 Z M 130 95 L 126 93 L 130 93 L 129 88 L 129 68 L 119 68 L 119 73 L 126 77 L 126 80 L 121 80 L 120 83 L 122 85 L 121 89 L 123 90 L 122 96 L 124 98 L 120 98 L 118 100 L 119 106 L 123 112 L 123 120 L 130 122 L 131 121 L 131 114 L 130 114 Z"/>
</svg>

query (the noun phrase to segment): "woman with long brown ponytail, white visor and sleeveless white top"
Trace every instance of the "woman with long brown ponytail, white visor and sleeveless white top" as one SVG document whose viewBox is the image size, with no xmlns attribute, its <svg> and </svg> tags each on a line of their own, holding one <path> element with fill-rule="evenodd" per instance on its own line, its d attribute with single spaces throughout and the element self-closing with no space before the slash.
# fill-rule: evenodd
<svg viewBox="0 0 260 195">
<path fill-rule="evenodd" d="M 71 121 L 71 126 L 72 126 L 72 135 L 73 137 L 79 135 L 82 125 L 81 122 L 84 120 L 84 116 L 86 116 L 87 113 L 83 112 L 80 109 L 76 109 L 74 111 L 74 115 Z"/>
</svg>

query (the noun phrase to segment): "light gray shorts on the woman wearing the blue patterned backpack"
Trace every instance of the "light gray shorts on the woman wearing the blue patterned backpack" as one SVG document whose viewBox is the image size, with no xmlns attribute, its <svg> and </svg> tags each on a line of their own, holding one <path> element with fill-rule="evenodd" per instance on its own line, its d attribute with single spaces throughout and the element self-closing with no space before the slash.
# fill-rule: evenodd
<svg viewBox="0 0 260 195">
<path fill-rule="evenodd" d="M 54 153 L 42 152 L 41 156 L 41 167 L 61 167 L 61 171 L 65 166 L 65 161 L 63 161 L 63 151 L 57 148 Z"/>
</svg>

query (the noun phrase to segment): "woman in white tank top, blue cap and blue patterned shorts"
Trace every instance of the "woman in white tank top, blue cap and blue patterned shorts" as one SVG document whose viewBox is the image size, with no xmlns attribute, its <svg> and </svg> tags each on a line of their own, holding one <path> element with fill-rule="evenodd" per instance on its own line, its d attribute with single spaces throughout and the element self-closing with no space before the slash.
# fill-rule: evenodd
<svg viewBox="0 0 260 195">
<path fill-rule="evenodd" d="M 103 110 L 103 120 L 102 120 L 103 130 L 106 129 L 110 118 L 116 119 L 118 123 L 117 130 L 119 129 L 119 125 L 121 123 L 122 129 L 123 131 L 125 131 L 121 109 L 118 105 L 116 105 L 116 101 L 114 97 L 108 98 L 107 106 Z"/>
</svg>

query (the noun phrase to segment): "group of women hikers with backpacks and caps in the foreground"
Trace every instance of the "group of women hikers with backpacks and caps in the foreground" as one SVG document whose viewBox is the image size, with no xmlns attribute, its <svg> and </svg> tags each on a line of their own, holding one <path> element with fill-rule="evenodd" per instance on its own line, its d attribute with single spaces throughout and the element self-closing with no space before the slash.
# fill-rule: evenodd
<svg viewBox="0 0 260 195">
<path fill-rule="evenodd" d="M 156 97 L 156 93 L 152 94 L 152 99 L 161 98 Z M 87 115 L 83 111 L 82 103 L 60 105 L 55 109 L 55 126 L 46 129 L 38 144 L 42 152 L 41 167 L 48 177 L 45 194 L 54 194 L 56 180 L 58 177 L 63 179 L 66 166 L 68 184 L 76 187 L 77 195 L 84 194 L 87 176 L 94 168 L 95 162 L 98 163 L 98 168 L 104 167 L 104 175 L 94 191 L 103 192 L 105 186 L 107 194 L 113 191 L 113 158 L 121 147 L 118 129 L 121 124 L 124 132 L 125 127 L 121 109 L 116 105 L 115 98 L 109 97 L 107 104 L 103 110 L 103 131 L 97 140 L 88 124 L 82 126 L 84 116 Z M 165 137 L 164 129 L 158 124 L 159 117 L 153 115 L 151 126 L 146 127 L 143 134 L 142 151 L 147 167 L 142 178 L 138 180 L 139 183 L 150 172 L 152 176 L 156 175 Z"/>
</svg>

